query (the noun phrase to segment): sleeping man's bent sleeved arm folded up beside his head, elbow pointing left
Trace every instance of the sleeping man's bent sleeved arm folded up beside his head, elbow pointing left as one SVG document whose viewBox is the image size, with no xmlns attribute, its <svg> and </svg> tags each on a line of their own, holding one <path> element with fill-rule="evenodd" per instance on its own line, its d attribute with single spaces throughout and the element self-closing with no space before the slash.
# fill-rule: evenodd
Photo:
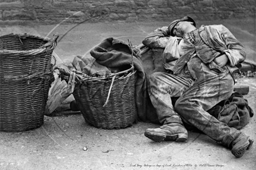
<svg viewBox="0 0 256 170">
<path fill-rule="evenodd" d="M 168 27 L 162 27 L 148 34 L 142 43 L 149 48 L 165 48 L 168 40 Z"/>
</svg>

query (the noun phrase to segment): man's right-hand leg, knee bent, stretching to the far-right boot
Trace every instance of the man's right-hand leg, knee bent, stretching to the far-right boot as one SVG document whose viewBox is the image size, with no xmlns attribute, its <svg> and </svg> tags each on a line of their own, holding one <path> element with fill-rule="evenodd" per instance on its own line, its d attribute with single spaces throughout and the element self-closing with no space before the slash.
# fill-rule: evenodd
<svg viewBox="0 0 256 170">
<path fill-rule="evenodd" d="M 230 74 L 216 74 L 214 77 L 199 80 L 180 96 L 175 110 L 184 121 L 223 145 L 233 147 L 232 153 L 241 157 L 252 141 L 244 133 L 230 128 L 207 112 L 209 108 L 230 97 L 233 86 Z M 240 145 L 234 149 L 234 145 L 239 142 Z"/>
</svg>

